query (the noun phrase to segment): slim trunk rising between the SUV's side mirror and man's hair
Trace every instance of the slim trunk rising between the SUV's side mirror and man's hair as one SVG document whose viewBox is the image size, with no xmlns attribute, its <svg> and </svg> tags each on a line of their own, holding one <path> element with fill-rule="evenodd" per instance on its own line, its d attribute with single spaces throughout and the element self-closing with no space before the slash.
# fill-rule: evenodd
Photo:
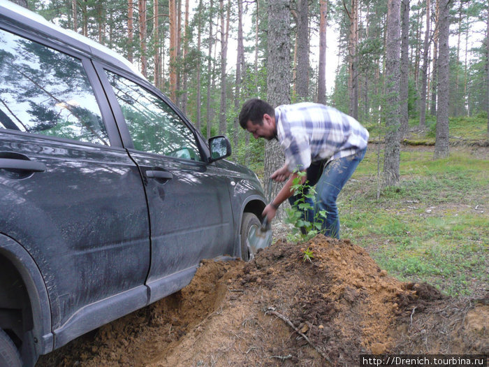
<svg viewBox="0 0 489 367">
<path fill-rule="evenodd" d="M 238 133 L 240 131 L 240 122 L 238 114 L 240 110 L 241 94 L 241 71 L 245 69 L 245 45 L 243 44 L 243 3 L 238 0 L 238 48 L 236 50 L 236 79 L 234 91 L 234 124 L 233 124 L 233 150 L 238 152 Z"/>
</svg>

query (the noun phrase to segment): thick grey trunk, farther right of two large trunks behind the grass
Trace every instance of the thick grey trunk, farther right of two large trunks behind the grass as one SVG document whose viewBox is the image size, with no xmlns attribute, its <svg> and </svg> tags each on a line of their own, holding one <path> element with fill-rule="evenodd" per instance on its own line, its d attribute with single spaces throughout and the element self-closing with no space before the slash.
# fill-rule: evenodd
<svg viewBox="0 0 489 367">
<path fill-rule="evenodd" d="M 438 52 L 438 108 L 437 108 L 437 137 L 435 140 L 435 159 L 448 157 L 449 131 L 448 131 L 448 89 L 450 49 L 448 48 L 448 36 L 450 33 L 450 3 L 451 0 L 439 1 L 439 52 Z"/>
</svg>

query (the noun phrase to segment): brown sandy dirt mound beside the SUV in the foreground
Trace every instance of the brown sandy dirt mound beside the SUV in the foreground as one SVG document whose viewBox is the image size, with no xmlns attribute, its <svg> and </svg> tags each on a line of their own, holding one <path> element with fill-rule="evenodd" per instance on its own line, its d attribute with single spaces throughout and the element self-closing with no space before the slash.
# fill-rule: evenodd
<svg viewBox="0 0 489 367">
<path fill-rule="evenodd" d="M 488 350 L 488 320 L 487 299 L 399 282 L 361 247 L 317 236 L 279 240 L 248 264 L 204 261 L 181 292 L 39 366 L 343 366 L 358 354 L 475 354 Z"/>
</svg>

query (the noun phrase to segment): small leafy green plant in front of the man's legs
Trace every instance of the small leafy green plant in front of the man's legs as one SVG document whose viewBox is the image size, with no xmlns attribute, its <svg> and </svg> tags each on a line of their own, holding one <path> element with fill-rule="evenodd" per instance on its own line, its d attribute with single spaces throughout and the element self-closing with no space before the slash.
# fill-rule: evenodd
<svg viewBox="0 0 489 367">
<path fill-rule="evenodd" d="M 319 210 L 314 213 L 312 222 L 305 219 L 307 212 L 314 212 L 314 207 L 308 202 L 308 199 L 314 201 L 316 191 L 313 187 L 307 185 L 307 181 L 302 184 L 302 178 L 305 172 L 298 172 L 298 177 L 293 180 L 291 189 L 295 195 L 299 196 L 294 205 L 286 209 L 286 223 L 293 224 L 293 237 L 305 240 L 316 236 L 321 231 L 321 226 L 326 220 L 326 210 Z"/>
</svg>

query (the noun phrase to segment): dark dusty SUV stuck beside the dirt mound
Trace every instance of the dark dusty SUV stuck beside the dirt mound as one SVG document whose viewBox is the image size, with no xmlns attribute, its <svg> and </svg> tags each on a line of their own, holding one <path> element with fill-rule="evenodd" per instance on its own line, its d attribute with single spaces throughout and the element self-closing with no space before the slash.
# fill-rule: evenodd
<svg viewBox="0 0 489 367">
<path fill-rule="evenodd" d="M 0 366 L 248 259 L 265 199 L 124 58 L 0 0 Z"/>
</svg>

